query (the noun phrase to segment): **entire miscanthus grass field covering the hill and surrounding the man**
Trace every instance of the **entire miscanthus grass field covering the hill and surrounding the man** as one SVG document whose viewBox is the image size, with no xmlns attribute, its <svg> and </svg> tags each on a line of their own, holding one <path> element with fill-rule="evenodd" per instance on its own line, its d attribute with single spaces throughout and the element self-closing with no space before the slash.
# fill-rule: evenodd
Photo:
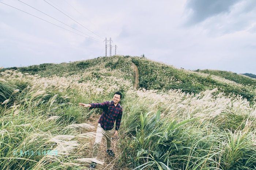
<svg viewBox="0 0 256 170">
<path fill-rule="evenodd" d="M 132 63 L 139 70 L 135 89 Z M 114 56 L 0 70 L 0 169 L 255 170 L 256 81 Z M 100 109 L 123 93 L 112 166 L 91 159 Z M 90 121 L 96 119 L 96 121 Z"/>
</svg>

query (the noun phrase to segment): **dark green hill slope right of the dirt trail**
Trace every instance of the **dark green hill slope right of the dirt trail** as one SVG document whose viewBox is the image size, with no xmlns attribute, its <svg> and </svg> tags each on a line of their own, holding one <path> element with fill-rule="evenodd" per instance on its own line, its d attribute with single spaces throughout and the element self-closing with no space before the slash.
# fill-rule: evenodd
<svg viewBox="0 0 256 170">
<path fill-rule="evenodd" d="M 224 71 L 200 71 L 207 74 L 177 69 L 141 57 L 133 57 L 132 62 L 139 70 L 139 86 L 148 89 L 181 89 L 183 92 L 198 94 L 204 90 L 218 88 L 228 95 L 241 95 L 250 102 L 256 100 L 256 80 L 236 73 Z M 225 73 L 225 74 L 224 74 Z M 212 75 L 217 75 L 213 77 Z M 223 79 L 224 77 L 225 79 Z M 233 82 L 229 81 L 232 80 Z M 236 84 L 237 83 L 237 84 Z"/>
</svg>

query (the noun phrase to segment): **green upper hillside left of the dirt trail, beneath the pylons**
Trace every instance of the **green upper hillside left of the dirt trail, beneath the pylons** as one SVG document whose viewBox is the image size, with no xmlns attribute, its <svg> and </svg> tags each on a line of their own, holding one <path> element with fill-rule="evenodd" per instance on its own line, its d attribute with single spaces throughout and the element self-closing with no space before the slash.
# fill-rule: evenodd
<svg viewBox="0 0 256 170">
<path fill-rule="evenodd" d="M 112 71 L 114 69 L 127 72 L 125 78 L 129 80 L 133 79 L 133 76 L 129 75 L 133 72 L 131 68 L 131 60 L 128 57 L 122 56 L 112 57 L 111 59 L 108 57 L 98 57 L 86 61 L 75 61 L 70 63 L 45 63 L 39 65 L 31 65 L 28 67 L 3 68 L 0 69 L 0 72 L 4 72 L 8 69 L 15 69 L 22 73 L 29 73 L 30 75 L 38 74 L 42 77 L 49 77 L 54 75 L 67 77 L 71 75 L 82 74 L 84 72 L 99 71 L 102 69 L 102 67 L 106 68 L 107 71 Z"/>
</svg>

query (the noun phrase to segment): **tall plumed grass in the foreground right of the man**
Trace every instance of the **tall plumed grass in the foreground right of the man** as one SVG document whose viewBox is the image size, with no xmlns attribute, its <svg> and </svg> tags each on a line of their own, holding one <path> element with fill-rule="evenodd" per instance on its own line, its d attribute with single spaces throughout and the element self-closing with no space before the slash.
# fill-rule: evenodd
<svg viewBox="0 0 256 170">
<path fill-rule="evenodd" d="M 255 169 L 255 105 L 213 92 L 128 91 L 140 107 L 125 105 L 119 163 L 131 169 Z"/>
</svg>

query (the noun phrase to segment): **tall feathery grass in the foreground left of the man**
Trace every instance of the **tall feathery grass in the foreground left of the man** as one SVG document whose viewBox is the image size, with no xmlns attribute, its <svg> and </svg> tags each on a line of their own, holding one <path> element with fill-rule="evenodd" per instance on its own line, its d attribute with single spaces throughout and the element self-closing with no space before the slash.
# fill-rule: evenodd
<svg viewBox="0 0 256 170">
<path fill-rule="evenodd" d="M 8 79 L 1 81 L 0 89 L 10 89 L 3 99 L 10 99 L 17 87 Z M 19 91 L 12 103 L 8 99 L 1 103 L 0 169 L 80 170 L 91 161 L 85 155 L 92 136 L 80 133 L 94 126 L 79 124 L 81 109 L 57 89 L 33 84 Z"/>
</svg>

